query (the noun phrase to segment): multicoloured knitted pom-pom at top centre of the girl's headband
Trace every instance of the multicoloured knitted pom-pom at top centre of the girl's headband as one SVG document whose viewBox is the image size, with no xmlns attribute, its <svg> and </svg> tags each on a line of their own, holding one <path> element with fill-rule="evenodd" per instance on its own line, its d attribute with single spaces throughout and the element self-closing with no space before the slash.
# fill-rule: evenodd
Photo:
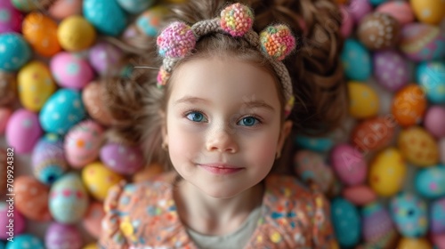
<svg viewBox="0 0 445 249">
<path fill-rule="evenodd" d="M 231 4 L 221 12 L 221 28 L 231 36 L 244 36 L 254 24 L 254 13 L 243 4 Z"/>
</svg>

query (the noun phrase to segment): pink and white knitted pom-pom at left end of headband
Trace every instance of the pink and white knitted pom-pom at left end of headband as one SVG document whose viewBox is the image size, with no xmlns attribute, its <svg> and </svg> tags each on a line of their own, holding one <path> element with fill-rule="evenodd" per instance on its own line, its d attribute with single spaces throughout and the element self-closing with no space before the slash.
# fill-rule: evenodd
<svg viewBox="0 0 445 249">
<path fill-rule="evenodd" d="M 175 21 L 158 36 L 157 44 L 162 57 L 181 58 L 195 47 L 196 37 L 189 25 Z"/>
</svg>

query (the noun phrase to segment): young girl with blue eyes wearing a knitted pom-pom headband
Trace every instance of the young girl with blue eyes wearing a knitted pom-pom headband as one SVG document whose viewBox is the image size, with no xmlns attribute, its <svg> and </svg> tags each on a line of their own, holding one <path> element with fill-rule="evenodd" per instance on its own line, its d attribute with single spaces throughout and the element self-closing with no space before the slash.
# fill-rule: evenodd
<svg viewBox="0 0 445 249">
<path fill-rule="evenodd" d="M 158 36 L 159 70 L 135 69 L 107 83 L 115 134 L 142 144 L 149 162 L 173 171 L 109 191 L 101 248 L 337 247 L 326 198 L 290 175 L 271 173 L 292 120 L 303 119 L 294 109 L 312 98 L 295 95 L 295 89 L 304 91 L 295 84 L 317 84 L 320 68 L 308 72 L 314 82 L 292 84 L 287 68 L 293 67 L 292 76 L 302 76 L 301 69 L 282 60 L 298 42 L 292 33 L 301 32 L 275 24 L 258 34 L 246 5 L 222 7 L 218 1 L 182 6 L 177 13 L 186 22 L 172 22 Z M 300 21 L 303 33 L 310 32 Z M 313 56 L 318 52 L 312 48 Z M 317 89 L 312 92 L 323 100 L 341 92 L 322 88 L 305 91 Z M 328 110 L 305 108 L 320 116 Z"/>
</svg>

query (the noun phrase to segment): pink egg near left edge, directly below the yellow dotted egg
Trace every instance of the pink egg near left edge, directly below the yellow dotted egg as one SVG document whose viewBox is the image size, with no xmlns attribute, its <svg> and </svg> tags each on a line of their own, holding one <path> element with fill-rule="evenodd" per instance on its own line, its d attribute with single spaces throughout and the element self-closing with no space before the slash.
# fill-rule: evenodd
<svg viewBox="0 0 445 249">
<path fill-rule="evenodd" d="M 42 133 L 36 113 L 23 108 L 14 111 L 6 125 L 6 141 L 17 154 L 31 152 Z"/>
</svg>

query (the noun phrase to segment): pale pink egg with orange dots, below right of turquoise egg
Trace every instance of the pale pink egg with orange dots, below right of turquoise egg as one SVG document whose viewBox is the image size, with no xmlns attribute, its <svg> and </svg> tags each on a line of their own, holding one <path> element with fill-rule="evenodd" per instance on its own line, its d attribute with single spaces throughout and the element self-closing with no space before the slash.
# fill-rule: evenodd
<svg viewBox="0 0 445 249">
<path fill-rule="evenodd" d="M 92 120 L 73 126 L 65 136 L 63 145 L 69 165 L 82 168 L 93 163 L 99 156 L 102 137 L 103 128 Z"/>
</svg>

